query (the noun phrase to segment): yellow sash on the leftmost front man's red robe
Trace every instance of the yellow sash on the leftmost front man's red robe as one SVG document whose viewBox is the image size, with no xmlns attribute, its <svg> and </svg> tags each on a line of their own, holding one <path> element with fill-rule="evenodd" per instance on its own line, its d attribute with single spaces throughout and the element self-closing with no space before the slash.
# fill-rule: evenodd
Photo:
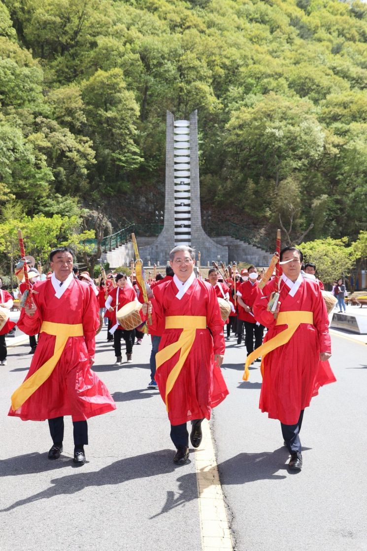
<svg viewBox="0 0 367 551">
<path fill-rule="evenodd" d="M 83 325 L 69 325 L 68 323 L 53 323 L 44 321 L 41 326 L 41 333 L 47 333 L 56 337 L 53 355 L 45 364 L 41 365 L 33 375 L 26 379 L 12 395 L 12 409 L 23 406 L 24 402 L 50 377 L 69 337 L 83 337 Z"/>
</svg>

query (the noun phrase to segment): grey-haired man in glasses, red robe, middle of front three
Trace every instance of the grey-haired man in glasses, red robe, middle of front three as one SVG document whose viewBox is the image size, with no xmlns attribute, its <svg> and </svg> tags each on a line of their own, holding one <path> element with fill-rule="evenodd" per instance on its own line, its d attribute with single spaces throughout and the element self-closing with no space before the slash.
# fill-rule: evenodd
<svg viewBox="0 0 367 551">
<path fill-rule="evenodd" d="M 153 312 L 152 324 L 162 335 L 156 355 L 155 378 L 171 422 L 177 448 L 173 461 L 185 463 L 191 444 L 201 442 L 201 422 L 227 396 L 220 366 L 225 343 L 223 322 L 213 287 L 194 274 L 195 252 L 175 247 L 169 254 L 173 279 L 157 285 L 154 299 L 143 305 Z"/>
</svg>

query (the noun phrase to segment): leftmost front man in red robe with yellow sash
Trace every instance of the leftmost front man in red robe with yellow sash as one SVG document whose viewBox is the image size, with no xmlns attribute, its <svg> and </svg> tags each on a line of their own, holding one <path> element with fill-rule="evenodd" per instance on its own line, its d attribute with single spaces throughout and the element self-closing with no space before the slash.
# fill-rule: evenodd
<svg viewBox="0 0 367 551">
<path fill-rule="evenodd" d="M 74 462 L 85 463 L 86 420 L 116 409 L 105 385 L 91 370 L 99 326 L 96 296 L 90 285 L 73 276 L 68 247 L 50 253 L 52 277 L 36 283 L 31 306 L 21 311 L 18 327 L 40 333 L 29 373 L 12 395 L 9 415 L 25 420 L 48 419 L 53 446 L 48 458 L 63 450 L 64 415 L 74 425 Z"/>
</svg>

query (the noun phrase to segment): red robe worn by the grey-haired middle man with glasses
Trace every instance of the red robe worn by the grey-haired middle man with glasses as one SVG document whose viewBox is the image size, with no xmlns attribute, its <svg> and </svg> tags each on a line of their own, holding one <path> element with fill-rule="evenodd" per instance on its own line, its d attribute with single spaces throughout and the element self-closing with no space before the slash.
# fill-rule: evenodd
<svg viewBox="0 0 367 551">
<path fill-rule="evenodd" d="M 171 392 L 168 394 L 168 418 L 172 425 L 192 419 L 210 419 L 211 409 L 228 395 L 221 369 L 214 365 L 214 354 L 224 354 L 223 322 L 212 286 L 194 279 L 182 299 L 173 279 L 154 289 L 153 329 L 161 334 L 159 350 L 177 342 L 182 329 L 166 329 L 168 316 L 205 316 L 207 328 L 196 329 L 193 347 L 183 365 Z M 210 329 L 210 331 L 209 331 Z M 163 401 L 166 381 L 179 352 L 157 368 L 155 380 Z"/>
</svg>

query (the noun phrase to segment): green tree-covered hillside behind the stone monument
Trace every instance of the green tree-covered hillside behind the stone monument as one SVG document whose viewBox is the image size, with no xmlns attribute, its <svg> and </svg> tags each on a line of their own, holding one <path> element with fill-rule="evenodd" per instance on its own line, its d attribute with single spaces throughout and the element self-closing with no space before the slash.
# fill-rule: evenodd
<svg viewBox="0 0 367 551">
<path fill-rule="evenodd" d="M 141 208 L 153 221 L 166 109 L 198 109 L 212 219 L 280 215 L 295 240 L 311 224 L 306 239 L 354 239 L 367 225 L 366 40 L 358 0 L 1 2 L 1 204 L 51 215 L 59 194 L 101 206 L 114 229 Z"/>
</svg>

